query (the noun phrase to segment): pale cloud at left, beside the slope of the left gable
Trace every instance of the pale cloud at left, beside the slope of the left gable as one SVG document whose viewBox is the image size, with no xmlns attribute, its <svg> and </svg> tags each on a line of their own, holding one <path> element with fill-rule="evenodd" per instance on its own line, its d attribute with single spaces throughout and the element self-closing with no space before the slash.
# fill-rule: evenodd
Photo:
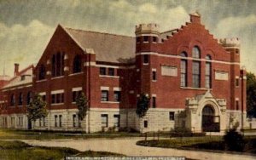
<svg viewBox="0 0 256 160">
<path fill-rule="evenodd" d="M 14 63 L 20 63 L 20 68 L 37 63 L 54 28 L 32 20 L 26 26 L 15 24 L 8 27 L 0 23 L 0 31 L 0 63 L 5 61 L 6 73 L 11 75 Z"/>
</svg>

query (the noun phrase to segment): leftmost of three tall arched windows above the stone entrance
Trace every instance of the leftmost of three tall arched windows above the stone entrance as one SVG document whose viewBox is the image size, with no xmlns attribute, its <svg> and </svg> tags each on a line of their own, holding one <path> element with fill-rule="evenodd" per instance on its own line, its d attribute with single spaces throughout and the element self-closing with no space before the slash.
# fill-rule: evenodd
<svg viewBox="0 0 256 160">
<path fill-rule="evenodd" d="M 180 54 L 181 61 L 180 61 L 180 86 L 181 87 L 187 87 L 187 77 L 188 77 L 188 63 L 186 59 L 183 59 L 184 57 L 187 57 L 187 53 L 182 52 Z"/>
</svg>

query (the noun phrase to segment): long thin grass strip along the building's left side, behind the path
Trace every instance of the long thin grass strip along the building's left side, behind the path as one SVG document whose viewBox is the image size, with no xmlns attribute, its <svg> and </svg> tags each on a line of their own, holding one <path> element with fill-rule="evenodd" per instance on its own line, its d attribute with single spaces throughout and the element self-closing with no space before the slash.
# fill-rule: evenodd
<svg viewBox="0 0 256 160">
<path fill-rule="evenodd" d="M 88 138 L 119 138 L 139 137 L 138 133 L 111 132 L 84 134 L 81 132 L 53 132 L 53 131 L 31 131 L 0 129 L 0 140 L 51 140 L 51 139 L 88 139 Z"/>
</svg>

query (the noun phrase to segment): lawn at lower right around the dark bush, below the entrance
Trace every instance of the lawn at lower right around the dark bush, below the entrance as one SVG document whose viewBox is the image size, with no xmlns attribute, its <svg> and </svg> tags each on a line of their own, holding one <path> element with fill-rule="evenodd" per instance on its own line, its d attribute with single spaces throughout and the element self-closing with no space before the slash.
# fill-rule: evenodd
<svg viewBox="0 0 256 160">
<path fill-rule="evenodd" d="M 256 136 L 245 136 L 245 147 L 243 152 L 256 154 Z M 185 137 L 169 140 L 140 140 L 140 146 L 154 146 L 162 148 L 196 149 L 227 151 L 221 136 Z"/>
</svg>

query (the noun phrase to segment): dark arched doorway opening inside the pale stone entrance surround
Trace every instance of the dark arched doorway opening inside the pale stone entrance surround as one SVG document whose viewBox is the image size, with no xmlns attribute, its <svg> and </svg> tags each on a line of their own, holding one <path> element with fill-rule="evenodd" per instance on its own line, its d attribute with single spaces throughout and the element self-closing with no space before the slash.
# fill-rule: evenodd
<svg viewBox="0 0 256 160">
<path fill-rule="evenodd" d="M 219 132 L 219 116 L 215 115 L 212 106 L 204 106 L 202 110 L 201 128 L 203 132 Z"/>
</svg>

